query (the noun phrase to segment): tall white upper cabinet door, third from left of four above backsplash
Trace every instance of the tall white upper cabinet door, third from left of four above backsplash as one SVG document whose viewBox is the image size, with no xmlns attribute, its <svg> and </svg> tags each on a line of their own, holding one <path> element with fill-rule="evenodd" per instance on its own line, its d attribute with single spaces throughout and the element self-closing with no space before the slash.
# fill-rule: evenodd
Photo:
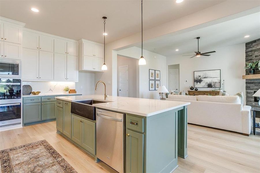
<svg viewBox="0 0 260 173">
<path fill-rule="evenodd" d="M 54 80 L 67 79 L 67 55 L 54 53 Z"/>
</svg>

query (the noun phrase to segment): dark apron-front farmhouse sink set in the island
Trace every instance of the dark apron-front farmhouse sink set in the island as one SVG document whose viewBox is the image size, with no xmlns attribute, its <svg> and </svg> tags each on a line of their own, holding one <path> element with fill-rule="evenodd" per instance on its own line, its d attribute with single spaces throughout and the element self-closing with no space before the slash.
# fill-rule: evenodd
<svg viewBox="0 0 260 173">
<path fill-rule="evenodd" d="M 71 113 L 90 120 L 96 120 L 96 107 L 92 104 L 106 103 L 105 101 L 84 100 L 71 102 Z"/>
</svg>

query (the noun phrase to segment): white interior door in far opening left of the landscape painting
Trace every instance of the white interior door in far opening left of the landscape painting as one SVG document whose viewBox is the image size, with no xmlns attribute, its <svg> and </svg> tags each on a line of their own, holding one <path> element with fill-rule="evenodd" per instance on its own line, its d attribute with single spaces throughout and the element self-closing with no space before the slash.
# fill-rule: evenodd
<svg viewBox="0 0 260 173">
<path fill-rule="evenodd" d="M 179 92 L 179 69 L 169 70 L 168 90 Z"/>
</svg>

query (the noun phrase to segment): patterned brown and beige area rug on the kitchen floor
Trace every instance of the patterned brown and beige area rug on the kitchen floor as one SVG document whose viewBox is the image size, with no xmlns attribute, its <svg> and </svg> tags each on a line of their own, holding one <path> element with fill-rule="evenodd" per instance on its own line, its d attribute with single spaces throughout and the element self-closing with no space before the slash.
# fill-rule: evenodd
<svg viewBox="0 0 260 173">
<path fill-rule="evenodd" d="M 77 173 L 46 140 L 2 150 L 0 163 L 1 173 Z"/>
</svg>

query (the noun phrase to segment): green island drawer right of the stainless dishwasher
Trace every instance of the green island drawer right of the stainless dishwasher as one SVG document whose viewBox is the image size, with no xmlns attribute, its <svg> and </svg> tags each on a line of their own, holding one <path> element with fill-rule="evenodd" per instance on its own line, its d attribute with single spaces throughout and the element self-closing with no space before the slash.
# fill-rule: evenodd
<svg viewBox="0 0 260 173">
<path fill-rule="evenodd" d="M 126 114 L 126 128 L 144 132 L 144 119 Z"/>
</svg>

